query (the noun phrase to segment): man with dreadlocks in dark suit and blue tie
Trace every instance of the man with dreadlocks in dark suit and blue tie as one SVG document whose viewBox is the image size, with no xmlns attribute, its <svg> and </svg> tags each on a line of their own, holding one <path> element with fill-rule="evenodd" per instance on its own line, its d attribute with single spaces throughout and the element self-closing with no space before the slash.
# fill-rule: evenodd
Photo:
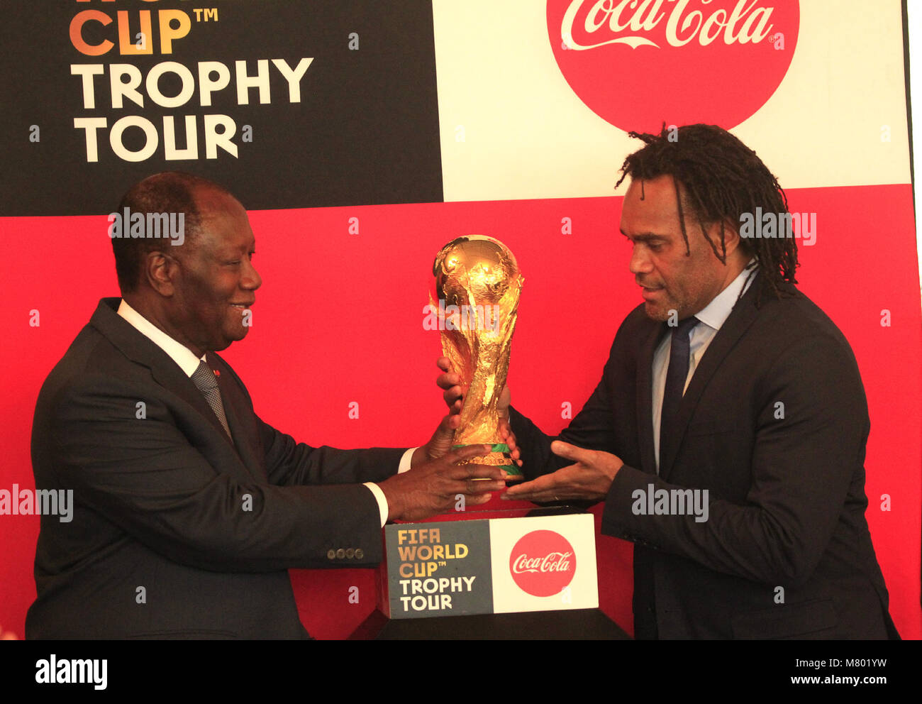
<svg viewBox="0 0 922 704">
<path fill-rule="evenodd" d="M 605 501 L 602 532 L 634 543 L 637 638 L 898 638 L 855 356 L 795 288 L 795 239 L 739 234 L 757 209 L 783 217 L 784 192 L 719 127 L 631 136 L 621 233 L 644 304 L 558 438 L 509 410 L 532 481 L 504 497 Z"/>
</svg>

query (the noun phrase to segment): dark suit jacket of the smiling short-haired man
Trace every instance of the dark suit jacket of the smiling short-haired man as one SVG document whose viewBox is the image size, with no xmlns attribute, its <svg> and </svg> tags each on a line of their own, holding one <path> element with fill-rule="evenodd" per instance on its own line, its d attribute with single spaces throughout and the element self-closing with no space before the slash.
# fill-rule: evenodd
<svg viewBox="0 0 922 704">
<path fill-rule="evenodd" d="M 396 473 L 403 450 L 295 443 L 208 352 L 231 442 L 118 304 L 100 301 L 39 395 L 36 487 L 73 489 L 75 510 L 41 517 L 27 638 L 305 637 L 286 570 L 381 560 L 357 483 Z"/>
</svg>

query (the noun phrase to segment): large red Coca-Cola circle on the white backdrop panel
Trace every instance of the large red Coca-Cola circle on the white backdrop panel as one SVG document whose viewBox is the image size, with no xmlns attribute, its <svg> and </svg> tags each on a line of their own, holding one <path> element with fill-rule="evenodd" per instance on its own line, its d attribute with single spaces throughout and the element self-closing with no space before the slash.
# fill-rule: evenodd
<svg viewBox="0 0 922 704">
<path fill-rule="evenodd" d="M 739 125 L 785 78 L 798 0 L 548 0 L 563 78 L 624 130 Z"/>
</svg>

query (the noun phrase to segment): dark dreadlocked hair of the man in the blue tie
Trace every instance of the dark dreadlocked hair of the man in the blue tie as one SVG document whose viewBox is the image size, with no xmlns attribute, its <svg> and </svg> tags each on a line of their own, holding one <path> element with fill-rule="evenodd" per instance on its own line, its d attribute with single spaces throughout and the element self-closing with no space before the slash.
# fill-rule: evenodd
<svg viewBox="0 0 922 704">
<path fill-rule="evenodd" d="M 752 149 L 721 127 L 683 125 L 676 130 L 667 129 L 664 122 L 658 135 L 629 132 L 628 136 L 640 139 L 646 146 L 624 160 L 615 188 L 630 175 L 641 180 L 643 198 L 644 180 L 671 175 L 686 256 L 690 249 L 685 210 L 698 221 L 704 238 L 724 264 L 727 264 L 724 236 L 727 221 L 736 223 L 739 229 L 740 216 L 750 213 L 755 217 L 757 208 L 779 218 L 788 212 L 787 197 L 774 174 Z M 715 222 L 720 223 L 719 250 L 707 233 L 707 226 Z M 797 283 L 794 272 L 799 266 L 798 245 L 793 237 L 740 238 L 740 246 L 745 254 L 758 259 L 762 270 L 757 305 L 762 292 L 767 290 L 780 298 L 783 281 Z"/>
</svg>

